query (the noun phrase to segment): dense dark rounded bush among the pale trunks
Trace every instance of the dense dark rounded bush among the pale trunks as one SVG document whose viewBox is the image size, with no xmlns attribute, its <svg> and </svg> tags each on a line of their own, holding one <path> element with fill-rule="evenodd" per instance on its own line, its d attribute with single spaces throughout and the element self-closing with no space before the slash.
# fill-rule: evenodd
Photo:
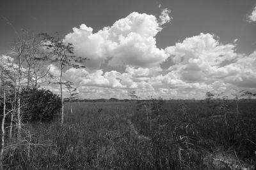
<svg viewBox="0 0 256 170">
<path fill-rule="evenodd" d="M 21 106 L 23 120 L 28 122 L 50 122 L 58 117 L 61 109 L 61 99 L 50 90 L 24 88 L 21 90 Z"/>
</svg>

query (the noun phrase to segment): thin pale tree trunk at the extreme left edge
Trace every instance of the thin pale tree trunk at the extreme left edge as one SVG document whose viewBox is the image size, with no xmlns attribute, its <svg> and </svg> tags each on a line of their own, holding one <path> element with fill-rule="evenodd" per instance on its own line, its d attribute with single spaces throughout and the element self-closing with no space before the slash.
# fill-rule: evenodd
<svg viewBox="0 0 256 170">
<path fill-rule="evenodd" d="M 3 73 L 2 73 L 3 76 Z M 3 78 L 3 77 L 2 77 Z M 3 85 L 3 119 L 2 119 L 2 125 L 1 125 L 1 129 L 2 129 L 2 141 L 1 141 L 1 152 L 0 152 L 0 167 L 1 169 L 3 169 L 3 153 L 4 153 L 4 134 L 5 134 L 5 129 L 4 129 L 4 121 L 5 121 L 5 117 L 6 117 L 6 96 L 5 96 L 5 85 L 2 81 L 2 85 Z"/>
</svg>

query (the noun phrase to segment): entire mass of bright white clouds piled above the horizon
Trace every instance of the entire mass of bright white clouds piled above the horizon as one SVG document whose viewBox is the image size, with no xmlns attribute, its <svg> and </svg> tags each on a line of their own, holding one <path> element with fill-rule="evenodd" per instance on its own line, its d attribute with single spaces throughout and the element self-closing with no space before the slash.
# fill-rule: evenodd
<svg viewBox="0 0 256 170">
<path fill-rule="evenodd" d="M 75 55 L 89 60 L 85 69 L 65 71 L 64 80 L 74 82 L 81 98 L 124 99 L 135 90 L 142 98 L 202 99 L 207 91 L 256 90 L 256 51 L 238 53 L 237 39 L 223 44 L 201 33 L 158 48 L 156 35 L 172 20 L 169 14 L 168 9 L 159 17 L 133 12 L 97 32 L 85 24 L 74 27 L 65 41 L 74 45 Z M 51 66 L 52 74 L 58 72 Z"/>
</svg>

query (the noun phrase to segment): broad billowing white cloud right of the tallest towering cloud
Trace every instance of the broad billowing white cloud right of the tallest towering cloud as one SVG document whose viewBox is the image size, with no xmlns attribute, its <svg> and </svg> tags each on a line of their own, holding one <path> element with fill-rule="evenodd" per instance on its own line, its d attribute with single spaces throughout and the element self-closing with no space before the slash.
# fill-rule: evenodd
<svg viewBox="0 0 256 170">
<path fill-rule="evenodd" d="M 201 33 L 165 50 L 175 64 L 168 68 L 169 73 L 155 78 L 155 82 L 161 81 L 155 85 L 166 84 L 202 97 L 200 91 L 256 89 L 256 52 L 237 53 L 236 41 L 223 44 L 214 35 Z"/>
</svg>

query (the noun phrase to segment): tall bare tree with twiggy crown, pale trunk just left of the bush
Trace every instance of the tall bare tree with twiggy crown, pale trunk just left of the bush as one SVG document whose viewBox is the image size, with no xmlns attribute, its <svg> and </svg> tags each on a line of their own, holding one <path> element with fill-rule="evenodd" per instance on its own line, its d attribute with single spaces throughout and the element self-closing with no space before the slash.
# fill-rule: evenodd
<svg viewBox="0 0 256 170">
<path fill-rule="evenodd" d="M 38 71 L 36 67 L 40 66 L 40 62 L 44 61 L 44 57 L 40 57 L 40 41 L 36 40 L 36 37 L 33 33 L 24 31 L 20 36 L 17 34 L 17 41 L 15 41 L 15 46 L 13 47 L 14 58 L 17 62 L 17 86 L 15 84 L 15 98 L 17 99 L 17 136 L 20 139 L 20 130 L 21 130 L 21 111 L 20 111 L 20 90 L 26 84 L 26 87 L 29 87 L 31 83 L 35 86 L 38 83 L 38 80 L 44 78 L 49 69 L 45 74 L 38 76 Z"/>
</svg>

